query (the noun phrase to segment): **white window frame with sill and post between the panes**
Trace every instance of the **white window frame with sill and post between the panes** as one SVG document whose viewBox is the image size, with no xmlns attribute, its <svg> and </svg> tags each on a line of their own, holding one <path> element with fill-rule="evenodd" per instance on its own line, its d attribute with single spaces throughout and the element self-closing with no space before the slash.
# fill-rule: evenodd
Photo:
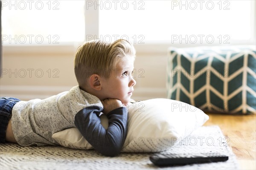
<svg viewBox="0 0 256 170">
<path fill-rule="evenodd" d="M 86 1 L 86 0 L 85 0 Z M 96 0 L 98 1 L 98 0 Z M 232 42 L 232 44 L 219 44 L 219 43 L 168 43 L 168 42 L 151 42 L 144 44 L 134 44 L 137 54 L 166 54 L 167 49 L 169 47 L 177 47 L 177 48 L 186 48 L 186 47 L 196 47 L 196 46 L 217 46 L 217 45 L 256 45 L 256 2 L 251 0 L 251 35 L 250 40 L 236 40 Z M 99 37 L 99 8 L 93 9 L 84 6 L 84 15 L 85 15 L 85 37 L 86 35 L 96 35 Z M 76 49 L 83 42 L 61 42 L 58 45 L 17 45 L 17 44 L 5 44 L 3 45 L 3 53 L 4 54 L 67 54 L 74 53 Z M 28 52 L 31 51 L 31 52 Z"/>
</svg>

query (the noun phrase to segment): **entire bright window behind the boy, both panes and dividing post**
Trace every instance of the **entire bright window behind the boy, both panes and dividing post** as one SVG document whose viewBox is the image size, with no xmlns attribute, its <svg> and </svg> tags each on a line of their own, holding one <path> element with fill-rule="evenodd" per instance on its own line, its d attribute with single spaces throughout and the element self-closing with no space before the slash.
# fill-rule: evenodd
<svg viewBox="0 0 256 170">
<path fill-rule="evenodd" d="M 255 43 L 253 0 L 2 1 L 3 45 Z"/>
</svg>

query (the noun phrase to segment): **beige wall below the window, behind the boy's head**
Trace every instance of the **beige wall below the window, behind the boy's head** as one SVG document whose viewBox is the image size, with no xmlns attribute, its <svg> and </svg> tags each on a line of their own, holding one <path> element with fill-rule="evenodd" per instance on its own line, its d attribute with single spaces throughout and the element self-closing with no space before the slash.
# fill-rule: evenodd
<svg viewBox="0 0 256 170">
<path fill-rule="evenodd" d="M 132 98 L 145 100 L 166 98 L 167 48 L 141 52 L 137 49 L 134 63 L 135 79 Z M 73 59 L 77 46 L 3 47 L 3 70 L 0 96 L 14 96 L 21 100 L 44 99 L 68 91 L 77 85 Z"/>
</svg>

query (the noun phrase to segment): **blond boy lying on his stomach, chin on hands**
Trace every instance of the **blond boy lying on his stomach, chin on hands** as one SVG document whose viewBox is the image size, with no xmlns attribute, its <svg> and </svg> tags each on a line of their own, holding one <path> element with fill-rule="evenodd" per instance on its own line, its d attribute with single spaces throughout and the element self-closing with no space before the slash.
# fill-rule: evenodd
<svg viewBox="0 0 256 170">
<path fill-rule="evenodd" d="M 47 99 L 0 99 L 0 140 L 22 146 L 58 144 L 52 134 L 77 127 L 105 156 L 116 156 L 127 135 L 127 109 L 133 86 L 135 49 L 126 40 L 90 41 L 76 52 L 79 85 Z M 107 130 L 99 114 L 108 116 Z M 10 120 L 10 121 L 9 121 Z"/>
</svg>

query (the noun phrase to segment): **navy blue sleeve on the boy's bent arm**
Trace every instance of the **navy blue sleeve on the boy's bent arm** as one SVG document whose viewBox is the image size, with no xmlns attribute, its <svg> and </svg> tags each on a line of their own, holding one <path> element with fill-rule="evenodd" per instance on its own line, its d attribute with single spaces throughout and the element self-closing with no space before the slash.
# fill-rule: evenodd
<svg viewBox="0 0 256 170">
<path fill-rule="evenodd" d="M 75 125 L 84 138 L 105 156 L 116 156 L 122 150 L 127 135 L 128 111 L 125 107 L 109 112 L 108 129 L 100 123 L 100 106 L 83 108 L 75 116 Z"/>
</svg>

